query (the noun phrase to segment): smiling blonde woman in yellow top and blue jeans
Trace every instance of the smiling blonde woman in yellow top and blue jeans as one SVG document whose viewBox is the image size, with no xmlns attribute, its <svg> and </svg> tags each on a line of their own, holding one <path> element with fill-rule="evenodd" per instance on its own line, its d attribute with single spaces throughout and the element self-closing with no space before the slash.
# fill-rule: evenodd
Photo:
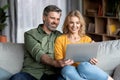
<svg viewBox="0 0 120 80">
<path fill-rule="evenodd" d="M 67 15 L 63 24 L 63 33 L 55 42 L 55 59 L 64 61 L 61 74 L 65 80 L 113 80 L 107 73 L 95 66 L 98 62 L 96 58 L 90 59 L 90 62 L 81 63 L 71 59 L 64 60 L 68 44 L 92 42 L 92 39 L 85 34 L 85 21 L 79 11 L 71 11 Z"/>
</svg>

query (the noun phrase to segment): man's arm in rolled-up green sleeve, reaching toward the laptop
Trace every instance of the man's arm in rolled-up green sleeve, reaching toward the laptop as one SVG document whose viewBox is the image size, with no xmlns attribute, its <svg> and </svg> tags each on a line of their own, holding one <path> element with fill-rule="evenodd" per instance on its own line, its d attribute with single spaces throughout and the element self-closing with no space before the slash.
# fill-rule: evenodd
<svg viewBox="0 0 120 80">
<path fill-rule="evenodd" d="M 42 62 L 43 64 L 47 64 L 53 67 L 63 66 L 63 61 L 54 60 L 49 55 L 47 55 L 47 52 L 41 48 L 41 43 L 38 43 L 38 41 L 34 39 L 32 35 L 25 33 L 24 36 L 25 48 L 37 62 Z"/>
</svg>

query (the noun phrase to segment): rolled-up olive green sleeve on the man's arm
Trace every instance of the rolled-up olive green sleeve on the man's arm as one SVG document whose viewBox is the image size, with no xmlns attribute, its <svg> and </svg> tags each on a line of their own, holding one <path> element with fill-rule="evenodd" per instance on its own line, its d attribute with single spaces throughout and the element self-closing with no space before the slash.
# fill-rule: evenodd
<svg viewBox="0 0 120 80">
<path fill-rule="evenodd" d="M 24 34 L 25 38 L 25 48 L 28 53 L 37 61 L 40 62 L 41 55 L 47 53 L 44 49 L 42 49 L 42 44 L 28 33 Z"/>
</svg>

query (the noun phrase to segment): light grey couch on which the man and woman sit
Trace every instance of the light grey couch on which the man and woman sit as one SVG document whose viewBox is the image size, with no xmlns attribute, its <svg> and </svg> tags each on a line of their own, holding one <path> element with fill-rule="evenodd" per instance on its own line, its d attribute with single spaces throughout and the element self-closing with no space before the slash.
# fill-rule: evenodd
<svg viewBox="0 0 120 80">
<path fill-rule="evenodd" d="M 120 80 L 120 40 L 99 42 L 97 52 L 98 67 Z M 22 69 L 24 61 L 24 44 L 0 43 L 0 80 L 8 80 L 10 76 Z"/>
</svg>

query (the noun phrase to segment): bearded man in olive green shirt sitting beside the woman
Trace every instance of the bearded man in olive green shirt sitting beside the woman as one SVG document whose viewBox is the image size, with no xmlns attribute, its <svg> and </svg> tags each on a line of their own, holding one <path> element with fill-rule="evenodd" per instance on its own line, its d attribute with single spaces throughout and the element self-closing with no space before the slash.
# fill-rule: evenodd
<svg viewBox="0 0 120 80">
<path fill-rule="evenodd" d="M 61 9 L 55 5 L 43 11 L 43 24 L 25 32 L 25 60 L 20 73 L 9 80 L 58 80 L 62 61 L 54 60 L 54 41 L 61 35 L 56 30 L 60 22 Z"/>
</svg>

